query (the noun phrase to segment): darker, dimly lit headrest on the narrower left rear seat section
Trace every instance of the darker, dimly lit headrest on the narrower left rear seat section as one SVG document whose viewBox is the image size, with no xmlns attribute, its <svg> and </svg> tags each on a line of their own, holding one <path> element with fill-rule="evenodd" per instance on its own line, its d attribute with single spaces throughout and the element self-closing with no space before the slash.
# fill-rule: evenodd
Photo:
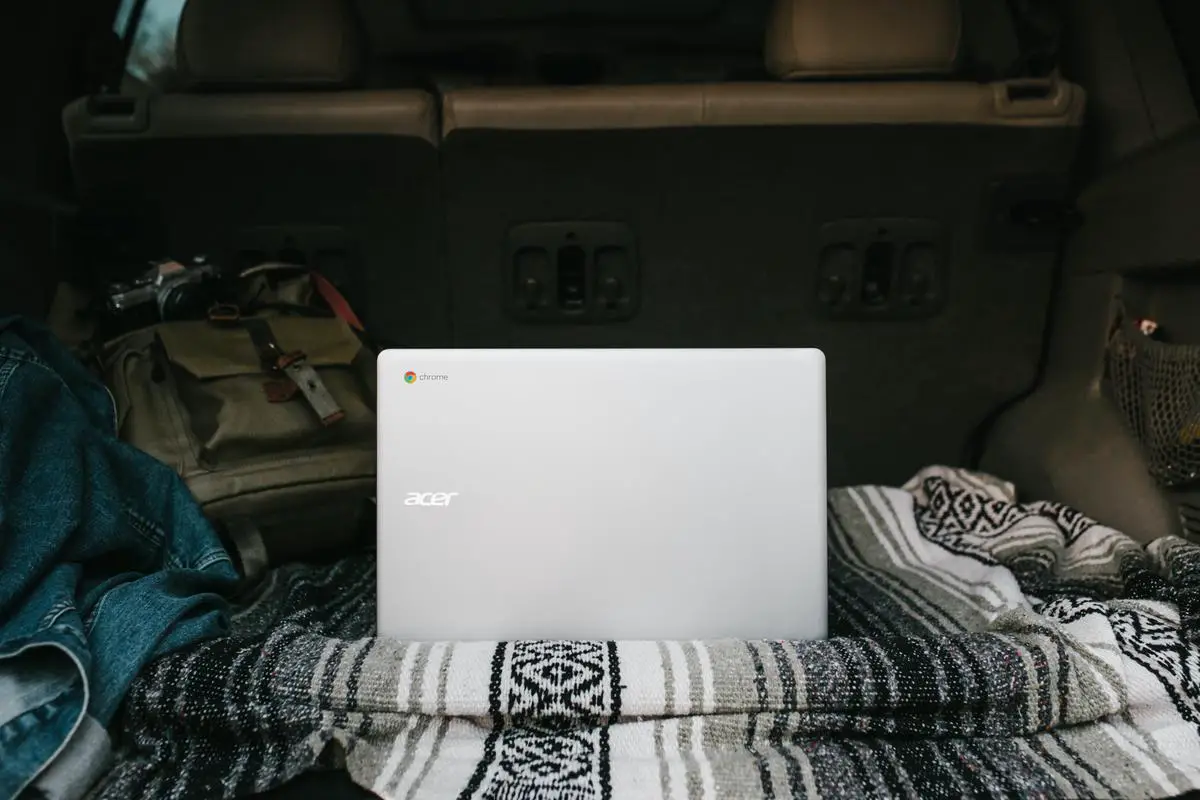
<svg viewBox="0 0 1200 800">
<path fill-rule="evenodd" d="M 347 0 L 187 0 L 175 47 L 191 91 L 344 89 L 362 72 Z"/>
</svg>

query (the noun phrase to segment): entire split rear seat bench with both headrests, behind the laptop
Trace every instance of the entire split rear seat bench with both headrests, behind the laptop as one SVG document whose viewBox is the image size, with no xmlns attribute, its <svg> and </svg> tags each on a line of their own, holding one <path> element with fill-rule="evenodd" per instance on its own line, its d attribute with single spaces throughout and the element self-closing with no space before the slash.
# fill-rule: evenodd
<svg viewBox="0 0 1200 800">
<path fill-rule="evenodd" d="M 1060 231 L 1024 223 L 1082 120 L 1058 79 L 959 79 L 959 11 L 778 0 L 774 80 L 456 89 L 438 125 L 361 88 L 340 0 L 190 0 L 181 91 L 65 118 L 84 199 L 163 252 L 358 251 L 385 339 L 820 347 L 829 480 L 895 483 L 1033 384 Z"/>
</svg>

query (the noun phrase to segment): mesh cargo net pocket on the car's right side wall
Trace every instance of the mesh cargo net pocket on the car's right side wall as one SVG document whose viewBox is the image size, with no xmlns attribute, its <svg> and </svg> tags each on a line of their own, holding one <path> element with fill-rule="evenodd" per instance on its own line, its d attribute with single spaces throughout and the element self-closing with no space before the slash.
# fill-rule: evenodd
<svg viewBox="0 0 1200 800">
<path fill-rule="evenodd" d="M 1108 380 L 1159 485 L 1200 485 L 1200 344 L 1122 326 L 1109 344 Z"/>
</svg>

